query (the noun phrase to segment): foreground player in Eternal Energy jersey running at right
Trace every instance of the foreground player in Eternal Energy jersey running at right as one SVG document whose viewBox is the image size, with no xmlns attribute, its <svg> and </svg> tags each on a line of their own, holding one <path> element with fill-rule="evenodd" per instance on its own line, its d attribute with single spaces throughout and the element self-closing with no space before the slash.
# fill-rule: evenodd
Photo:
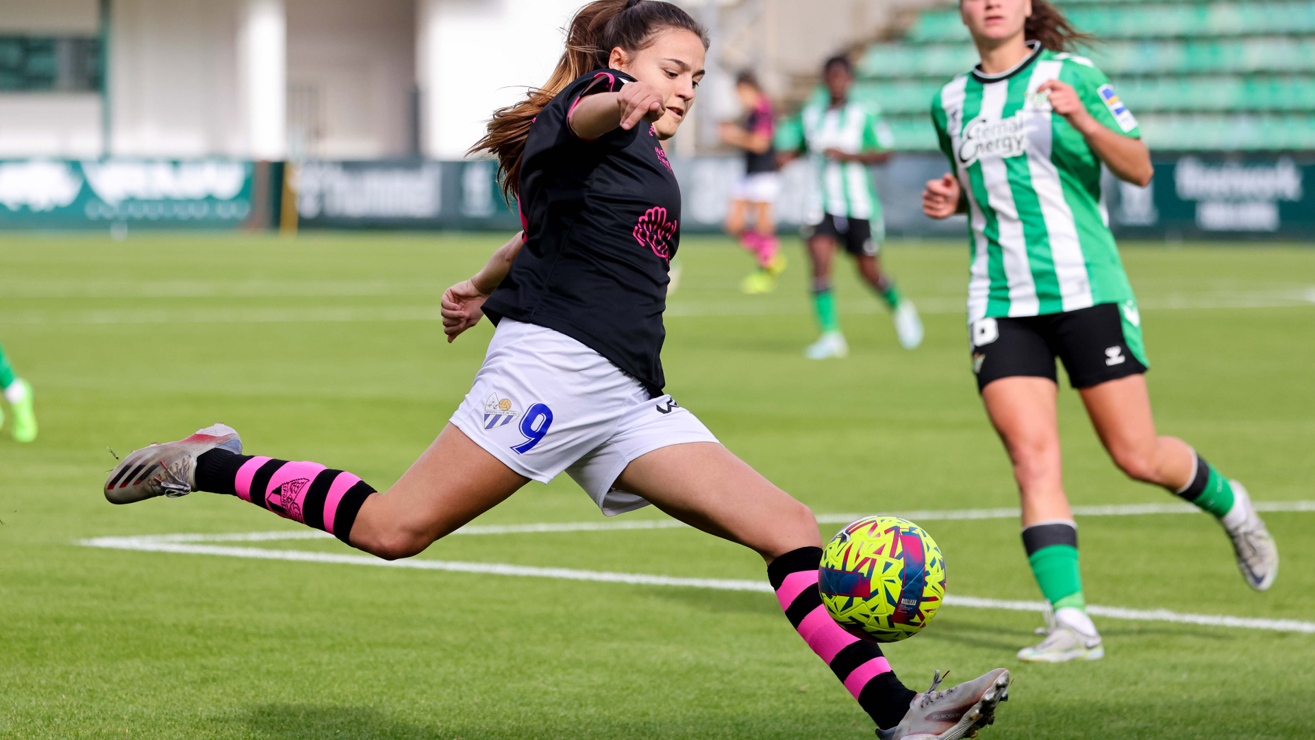
<svg viewBox="0 0 1315 740">
<path fill-rule="evenodd" d="M 927 183 L 932 219 L 967 212 L 973 371 L 1014 463 L 1023 546 L 1047 602 L 1048 633 L 1024 661 L 1095 660 L 1077 524 L 1064 496 L 1055 358 L 1124 473 L 1218 517 L 1253 589 L 1269 589 L 1278 550 L 1241 483 L 1186 442 L 1157 436 L 1141 315 L 1101 207 L 1101 165 L 1145 186 L 1153 169 L 1137 121 L 1089 59 L 1086 37 L 1044 0 L 960 0 L 981 65 L 932 103 L 953 174 Z"/>
</svg>

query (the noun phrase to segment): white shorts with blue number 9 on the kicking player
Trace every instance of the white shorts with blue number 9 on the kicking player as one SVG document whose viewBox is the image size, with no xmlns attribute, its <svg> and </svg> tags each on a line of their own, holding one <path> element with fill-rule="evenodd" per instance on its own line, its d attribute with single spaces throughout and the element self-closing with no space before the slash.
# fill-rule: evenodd
<svg viewBox="0 0 1315 740">
<path fill-rule="evenodd" d="M 697 416 L 552 329 L 502 319 L 452 425 L 526 478 L 565 471 L 613 516 L 648 506 L 613 487 L 635 458 L 717 442 Z"/>
</svg>

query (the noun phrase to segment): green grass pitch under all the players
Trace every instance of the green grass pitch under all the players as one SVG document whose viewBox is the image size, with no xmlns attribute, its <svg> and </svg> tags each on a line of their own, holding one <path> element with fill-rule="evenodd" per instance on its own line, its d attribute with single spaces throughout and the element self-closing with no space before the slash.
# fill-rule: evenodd
<svg viewBox="0 0 1315 740">
<path fill-rule="evenodd" d="M 443 342 L 443 287 L 497 236 L 7 236 L 0 340 L 37 391 L 41 438 L 0 438 L 0 737 L 826 739 L 871 720 L 771 594 L 79 546 L 84 537 L 296 529 L 209 494 L 113 507 L 121 454 L 213 421 L 247 449 L 387 487 L 460 402 L 490 328 Z M 852 354 L 810 363 L 797 241 L 776 294 L 743 296 L 746 255 L 685 241 L 669 391 L 818 514 L 1016 506 L 969 370 L 968 255 L 894 244 L 927 309 L 903 352 L 838 262 Z M 1143 303 L 1164 433 L 1257 500 L 1315 499 L 1315 250 L 1151 248 L 1124 258 Z M 1172 503 L 1110 465 L 1061 394 L 1076 504 Z M 660 519 L 644 510 L 622 519 Z M 1088 599 L 1140 610 L 1315 619 L 1315 512 L 1272 514 L 1266 594 L 1206 515 L 1081 517 Z M 601 521 L 567 478 L 477 524 Z M 838 524 L 823 525 L 830 536 Z M 1018 523 L 932 521 L 949 593 L 1039 599 Z M 335 541 L 243 546 L 348 553 Z M 454 536 L 422 558 L 765 579 L 748 550 L 690 529 Z M 1035 614 L 947 606 L 886 653 L 924 689 L 1014 672 L 984 737 L 1308 737 L 1315 633 L 1097 618 L 1107 657 L 1026 666 Z"/>
</svg>

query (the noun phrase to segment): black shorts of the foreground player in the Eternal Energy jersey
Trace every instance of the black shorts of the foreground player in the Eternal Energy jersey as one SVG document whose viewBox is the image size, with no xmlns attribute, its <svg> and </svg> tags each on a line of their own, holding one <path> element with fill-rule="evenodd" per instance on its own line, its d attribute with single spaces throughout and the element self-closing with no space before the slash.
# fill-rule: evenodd
<svg viewBox="0 0 1315 740">
<path fill-rule="evenodd" d="M 1055 358 L 1064 361 L 1074 388 L 1147 371 L 1141 315 L 1136 303 L 1102 303 L 1090 308 L 982 319 L 969 328 L 977 390 L 1001 378 L 1049 378 L 1059 382 Z"/>
</svg>

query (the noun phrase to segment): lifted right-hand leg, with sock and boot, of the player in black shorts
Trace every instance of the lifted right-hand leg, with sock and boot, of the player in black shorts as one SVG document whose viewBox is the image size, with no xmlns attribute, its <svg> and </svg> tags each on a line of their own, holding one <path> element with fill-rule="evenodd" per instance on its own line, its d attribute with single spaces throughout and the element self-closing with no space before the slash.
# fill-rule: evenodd
<svg viewBox="0 0 1315 740">
<path fill-rule="evenodd" d="M 1247 489 L 1228 481 L 1187 442 L 1156 433 L 1145 375 L 1082 388 L 1082 403 L 1114 463 L 1130 478 L 1182 495 L 1219 519 L 1247 585 L 1258 591 L 1278 577 L 1278 548 Z"/>
</svg>

